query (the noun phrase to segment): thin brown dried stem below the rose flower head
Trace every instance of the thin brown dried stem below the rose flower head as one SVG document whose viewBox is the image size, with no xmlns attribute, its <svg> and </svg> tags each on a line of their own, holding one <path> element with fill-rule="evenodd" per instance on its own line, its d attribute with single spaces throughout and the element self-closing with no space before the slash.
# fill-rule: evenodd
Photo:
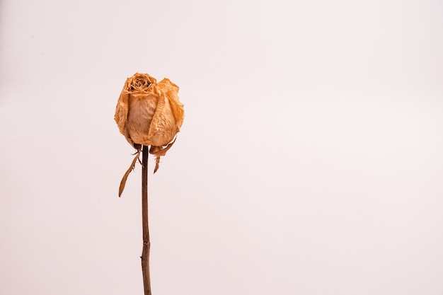
<svg viewBox="0 0 443 295">
<path fill-rule="evenodd" d="M 142 273 L 144 295 L 151 295 L 151 277 L 149 275 L 149 219 L 148 219 L 148 146 L 143 146 L 142 151 L 142 224 L 143 224 L 143 251 Z"/>
</svg>

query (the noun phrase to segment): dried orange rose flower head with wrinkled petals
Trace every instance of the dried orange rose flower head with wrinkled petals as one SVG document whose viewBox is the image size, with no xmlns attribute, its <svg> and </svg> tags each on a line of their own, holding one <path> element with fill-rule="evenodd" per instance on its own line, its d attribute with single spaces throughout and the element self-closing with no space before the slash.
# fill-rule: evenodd
<svg viewBox="0 0 443 295">
<path fill-rule="evenodd" d="M 185 110 L 178 100 L 178 86 L 165 78 L 160 82 L 149 74 L 136 73 L 126 80 L 115 108 L 115 122 L 126 140 L 140 150 L 151 146 L 150 154 L 160 156 L 173 145 L 183 124 Z"/>
</svg>

